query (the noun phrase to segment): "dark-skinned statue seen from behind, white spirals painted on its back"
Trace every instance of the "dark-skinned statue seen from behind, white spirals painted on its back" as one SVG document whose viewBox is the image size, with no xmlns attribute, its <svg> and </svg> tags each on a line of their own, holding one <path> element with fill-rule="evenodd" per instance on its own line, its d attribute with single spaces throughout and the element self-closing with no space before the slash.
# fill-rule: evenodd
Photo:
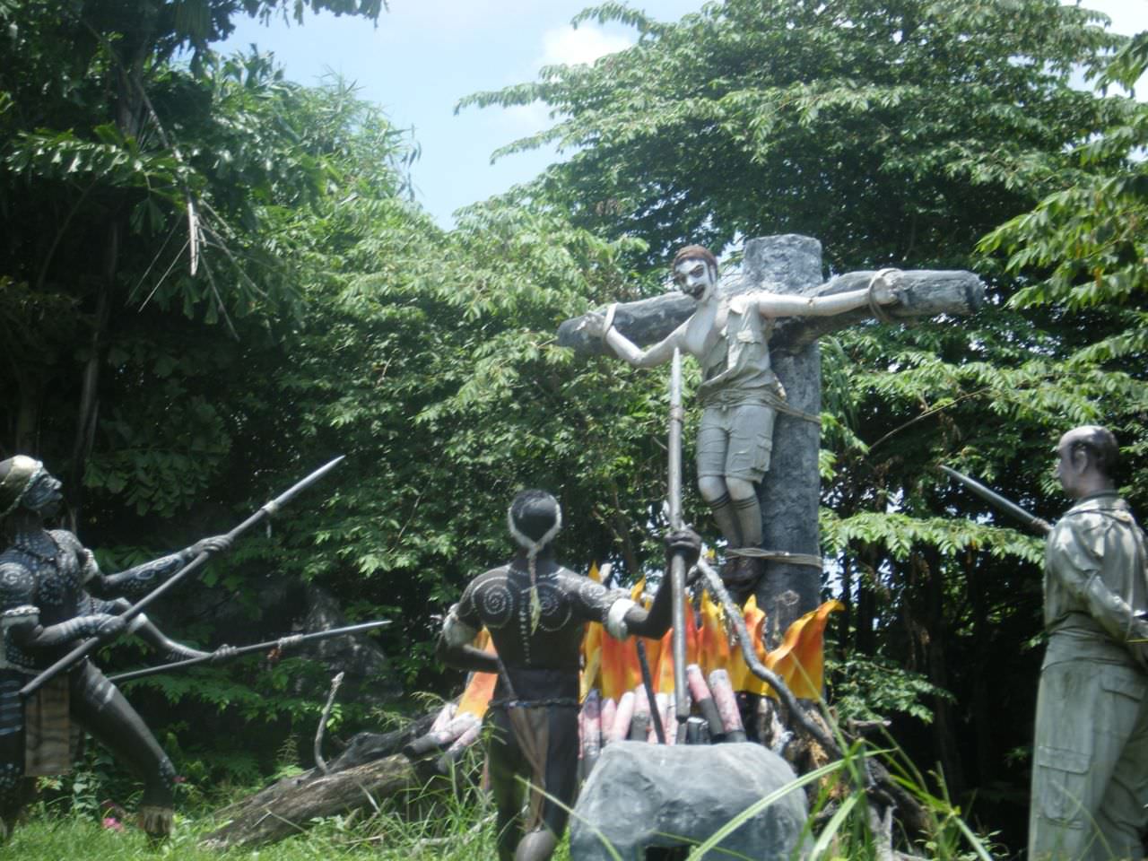
<svg viewBox="0 0 1148 861">
<path fill-rule="evenodd" d="M 661 637 L 670 626 L 669 577 L 649 611 L 623 590 L 610 590 L 554 561 L 551 541 L 561 509 L 550 494 L 525 490 L 507 521 L 519 552 L 506 565 L 475 577 L 451 607 L 439 637 L 439 657 L 452 667 L 497 673 L 487 714 L 490 784 L 498 808 L 501 861 L 545 861 L 566 829 L 577 792 L 579 651 L 585 622 L 602 622 L 614 637 Z M 672 558 L 687 569 L 700 540 L 692 530 L 667 538 Z M 666 569 L 669 569 L 667 559 Z M 497 656 L 472 645 L 490 631 Z M 523 821 L 522 781 L 530 797 Z"/>
</svg>

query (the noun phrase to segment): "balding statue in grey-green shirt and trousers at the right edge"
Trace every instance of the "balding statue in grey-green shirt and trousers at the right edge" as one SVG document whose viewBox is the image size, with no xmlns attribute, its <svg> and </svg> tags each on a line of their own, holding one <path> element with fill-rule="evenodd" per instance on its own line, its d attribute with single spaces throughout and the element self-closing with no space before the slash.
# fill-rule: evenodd
<svg viewBox="0 0 1148 861">
<path fill-rule="evenodd" d="M 1148 827 L 1148 559 L 1116 492 L 1116 439 L 1069 430 L 1056 475 L 1075 501 L 1048 536 L 1030 861 L 1140 859 Z"/>
</svg>

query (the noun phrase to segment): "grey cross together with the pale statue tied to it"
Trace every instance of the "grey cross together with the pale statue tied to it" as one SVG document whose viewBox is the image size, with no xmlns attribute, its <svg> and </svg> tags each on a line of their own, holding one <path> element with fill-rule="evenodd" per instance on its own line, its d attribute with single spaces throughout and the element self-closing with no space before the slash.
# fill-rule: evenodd
<svg viewBox="0 0 1148 861">
<path fill-rule="evenodd" d="M 750 422 L 747 435 L 760 443 L 759 452 L 743 445 L 736 427 L 711 430 L 703 418 L 697 460 L 699 489 L 718 509 L 730 549 L 755 558 L 727 564 L 723 573 L 731 591 L 744 597 L 748 587 L 757 594 L 773 646 L 790 622 L 820 603 L 817 339 L 875 318 L 900 323 L 969 315 L 984 303 L 984 285 L 963 270 L 859 271 L 825 281 L 821 243 L 796 234 L 746 240 L 740 272 L 720 284 L 713 256 L 697 246 L 683 249 L 673 269 L 684 292 L 566 320 L 558 343 L 641 365 L 665 362 L 678 348 L 701 363 L 704 412 L 724 408 L 727 416 L 719 418 L 732 425 L 734 413 L 744 409 L 735 404 L 746 390 L 759 417 L 762 408 L 769 412 L 768 419 Z M 718 451 L 707 455 L 712 445 Z M 730 455 L 742 458 L 743 448 L 751 468 L 730 468 Z M 753 587 L 758 566 L 765 572 Z"/>
</svg>

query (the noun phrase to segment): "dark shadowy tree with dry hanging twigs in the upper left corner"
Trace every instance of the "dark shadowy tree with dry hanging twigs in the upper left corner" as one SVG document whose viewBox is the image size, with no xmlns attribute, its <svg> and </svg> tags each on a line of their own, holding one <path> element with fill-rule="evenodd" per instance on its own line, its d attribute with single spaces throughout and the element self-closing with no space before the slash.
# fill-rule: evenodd
<svg viewBox="0 0 1148 861">
<path fill-rule="evenodd" d="M 371 20 L 381 10 L 380 0 L 310 6 Z M 303 3 L 292 8 L 302 21 Z M 0 3 L 8 41 L 0 71 L 0 211 L 9 225 L 0 285 L 15 300 L 6 302 L 13 309 L 7 325 L 38 332 L 30 324 L 44 311 L 63 312 L 45 331 L 46 343 L 36 338 L 28 348 L 26 334 L 10 341 L 17 383 L 3 394 L 17 406 L 9 440 L 18 450 L 51 452 L 56 464 L 68 458 L 73 520 L 118 309 L 138 307 L 168 281 L 161 274 L 181 267 L 184 251 L 187 276 L 168 285 L 185 312 L 230 319 L 289 298 L 266 289 L 279 279 L 263 278 L 261 287 L 258 266 L 248 262 L 267 250 L 257 239 L 257 201 L 281 195 L 284 186 L 296 202 L 313 197 L 321 170 L 305 153 L 292 157 L 296 150 L 282 146 L 284 135 L 276 140 L 273 126 L 214 124 L 218 93 L 204 72 L 214 62 L 209 42 L 231 31 L 234 15 L 265 18 L 287 9 L 281 0 Z M 186 67 L 173 62 L 181 51 L 191 52 Z M 248 71 L 250 83 L 269 84 L 265 72 Z M 196 138 L 204 132 L 207 140 Z M 208 149 L 209 140 L 232 146 Z M 267 157 L 277 144 L 277 155 L 287 158 Z M 163 235 L 168 242 L 158 249 L 150 245 Z M 70 444 L 61 428 L 39 420 L 45 398 L 61 387 L 78 403 Z"/>
</svg>

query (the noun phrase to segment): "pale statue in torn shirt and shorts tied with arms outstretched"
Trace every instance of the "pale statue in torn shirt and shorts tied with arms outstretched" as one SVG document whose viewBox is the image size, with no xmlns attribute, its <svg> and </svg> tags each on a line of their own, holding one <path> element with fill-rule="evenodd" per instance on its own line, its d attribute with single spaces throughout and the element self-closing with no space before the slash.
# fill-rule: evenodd
<svg viewBox="0 0 1148 861">
<path fill-rule="evenodd" d="M 643 350 L 595 313 L 584 328 L 635 367 L 668 362 L 674 350 L 701 364 L 701 419 L 697 435 L 698 490 L 731 551 L 722 572 L 727 585 L 747 597 L 761 576 L 752 553 L 761 544 L 758 488 L 769 470 L 774 419 L 793 412 L 769 363 L 769 336 L 781 317 L 831 317 L 866 305 L 890 305 L 898 292 L 884 279 L 831 296 L 797 296 L 757 289 L 728 295 L 719 289 L 718 258 L 701 246 L 685 246 L 670 266 L 674 285 L 696 303 L 693 313 Z"/>
</svg>

